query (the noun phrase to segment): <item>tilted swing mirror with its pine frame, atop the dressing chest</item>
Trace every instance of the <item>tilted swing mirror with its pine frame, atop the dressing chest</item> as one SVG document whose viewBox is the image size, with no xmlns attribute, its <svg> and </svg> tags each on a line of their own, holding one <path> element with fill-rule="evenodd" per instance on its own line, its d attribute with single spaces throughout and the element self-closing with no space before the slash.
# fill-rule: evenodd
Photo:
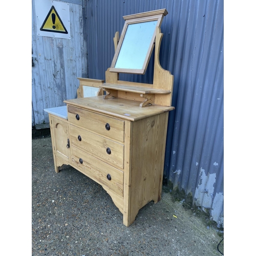
<svg viewBox="0 0 256 256">
<path fill-rule="evenodd" d="M 144 74 L 150 60 L 156 27 L 160 27 L 166 9 L 123 16 L 125 23 L 110 72 Z"/>
</svg>

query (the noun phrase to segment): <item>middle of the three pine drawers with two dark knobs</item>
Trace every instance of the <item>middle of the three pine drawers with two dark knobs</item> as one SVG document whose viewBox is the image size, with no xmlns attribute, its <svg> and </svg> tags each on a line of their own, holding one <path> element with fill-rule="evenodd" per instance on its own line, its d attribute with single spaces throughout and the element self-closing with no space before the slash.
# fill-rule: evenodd
<svg viewBox="0 0 256 256">
<path fill-rule="evenodd" d="M 96 158 L 123 168 L 124 145 L 102 136 L 81 129 L 77 126 L 70 125 L 70 142 L 72 146 Z"/>
</svg>

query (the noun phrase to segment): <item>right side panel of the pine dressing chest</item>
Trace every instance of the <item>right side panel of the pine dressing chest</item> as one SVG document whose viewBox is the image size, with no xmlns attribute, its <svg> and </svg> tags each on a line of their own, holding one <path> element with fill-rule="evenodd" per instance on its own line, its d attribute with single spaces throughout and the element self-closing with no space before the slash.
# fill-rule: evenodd
<svg viewBox="0 0 256 256">
<path fill-rule="evenodd" d="M 133 123 L 130 224 L 139 209 L 161 199 L 168 113 Z"/>
</svg>

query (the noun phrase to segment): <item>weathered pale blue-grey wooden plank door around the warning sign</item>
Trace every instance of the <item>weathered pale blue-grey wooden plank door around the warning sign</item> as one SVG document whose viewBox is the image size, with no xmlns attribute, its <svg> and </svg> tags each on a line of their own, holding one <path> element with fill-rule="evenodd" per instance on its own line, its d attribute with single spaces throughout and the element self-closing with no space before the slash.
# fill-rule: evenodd
<svg viewBox="0 0 256 256">
<path fill-rule="evenodd" d="M 82 5 L 73 4 L 82 4 L 82 1 L 68 2 L 71 39 L 62 39 L 37 36 L 32 1 L 32 126 L 35 127 L 49 123 L 48 113 L 44 109 L 65 105 L 63 100 L 76 97 L 79 86 L 77 77 L 87 77 Z"/>
</svg>

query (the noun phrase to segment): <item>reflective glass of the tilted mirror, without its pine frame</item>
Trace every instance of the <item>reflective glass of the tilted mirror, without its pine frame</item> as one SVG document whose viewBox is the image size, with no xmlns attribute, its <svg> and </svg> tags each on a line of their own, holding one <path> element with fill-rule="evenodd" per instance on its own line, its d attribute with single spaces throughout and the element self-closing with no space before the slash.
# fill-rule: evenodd
<svg viewBox="0 0 256 256">
<path fill-rule="evenodd" d="M 114 68 L 142 69 L 158 20 L 129 24 Z M 148 56 L 150 57 L 150 56 Z"/>
</svg>

